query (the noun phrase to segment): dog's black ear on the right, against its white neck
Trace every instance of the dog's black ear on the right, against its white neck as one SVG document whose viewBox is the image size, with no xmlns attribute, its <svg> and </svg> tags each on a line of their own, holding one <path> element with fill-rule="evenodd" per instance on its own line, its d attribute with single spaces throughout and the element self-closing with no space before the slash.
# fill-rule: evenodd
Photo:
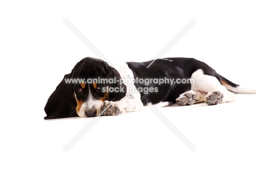
<svg viewBox="0 0 256 170">
<path fill-rule="evenodd" d="M 118 73 L 118 71 L 110 66 L 108 66 L 109 68 L 109 72 L 108 72 L 108 77 L 109 78 L 116 78 L 116 80 L 121 80 L 121 76 Z M 115 89 L 115 87 L 118 87 L 118 91 L 113 91 L 113 92 L 109 92 L 109 101 L 119 101 L 120 99 L 124 98 L 126 95 L 126 85 L 124 83 L 121 83 L 120 81 L 116 81 L 113 84 L 109 84 L 110 87 L 113 87 Z"/>
</svg>

